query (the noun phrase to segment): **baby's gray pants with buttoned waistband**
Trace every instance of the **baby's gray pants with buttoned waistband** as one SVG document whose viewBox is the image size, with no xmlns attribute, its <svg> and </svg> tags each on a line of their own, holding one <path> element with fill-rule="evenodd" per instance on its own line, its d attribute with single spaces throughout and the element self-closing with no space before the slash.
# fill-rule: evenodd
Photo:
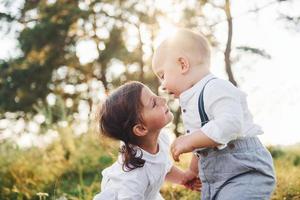
<svg viewBox="0 0 300 200">
<path fill-rule="evenodd" d="M 233 140 L 218 150 L 199 152 L 202 200 L 270 199 L 275 187 L 273 160 L 257 137 Z"/>
</svg>

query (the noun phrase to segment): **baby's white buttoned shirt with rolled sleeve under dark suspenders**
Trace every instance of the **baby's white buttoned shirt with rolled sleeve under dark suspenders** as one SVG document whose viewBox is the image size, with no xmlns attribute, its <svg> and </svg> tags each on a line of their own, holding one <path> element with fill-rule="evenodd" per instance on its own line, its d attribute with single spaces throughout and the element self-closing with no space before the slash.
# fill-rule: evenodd
<svg viewBox="0 0 300 200">
<path fill-rule="evenodd" d="M 261 127 L 253 123 L 246 94 L 229 81 L 219 78 L 211 80 L 205 86 L 203 100 L 209 122 L 201 127 L 198 111 L 199 95 L 205 83 L 214 77 L 208 74 L 193 87 L 181 93 L 179 102 L 186 133 L 201 129 L 207 137 L 223 144 L 219 148 L 237 138 L 262 134 Z"/>
</svg>

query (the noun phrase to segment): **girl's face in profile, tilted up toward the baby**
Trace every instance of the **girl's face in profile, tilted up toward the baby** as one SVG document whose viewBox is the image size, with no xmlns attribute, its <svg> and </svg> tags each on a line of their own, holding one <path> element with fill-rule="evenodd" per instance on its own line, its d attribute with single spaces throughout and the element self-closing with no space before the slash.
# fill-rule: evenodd
<svg viewBox="0 0 300 200">
<path fill-rule="evenodd" d="M 141 93 L 143 104 L 142 117 L 149 131 L 163 128 L 173 119 L 166 100 L 154 94 L 148 87 L 144 87 Z"/>
</svg>

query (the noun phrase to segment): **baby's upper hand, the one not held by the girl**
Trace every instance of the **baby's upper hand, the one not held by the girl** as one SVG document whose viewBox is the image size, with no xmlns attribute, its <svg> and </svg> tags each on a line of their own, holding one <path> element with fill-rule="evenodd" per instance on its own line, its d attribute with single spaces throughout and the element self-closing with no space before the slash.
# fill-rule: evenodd
<svg viewBox="0 0 300 200">
<path fill-rule="evenodd" d="M 176 138 L 171 145 L 173 159 L 178 162 L 180 154 L 192 152 L 193 147 L 191 143 L 191 135 L 182 135 Z"/>
</svg>

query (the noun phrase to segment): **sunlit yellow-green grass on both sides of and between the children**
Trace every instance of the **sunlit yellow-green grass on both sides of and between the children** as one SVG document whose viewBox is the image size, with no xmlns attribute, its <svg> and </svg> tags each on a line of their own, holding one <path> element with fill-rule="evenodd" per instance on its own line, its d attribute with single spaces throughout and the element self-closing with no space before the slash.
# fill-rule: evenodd
<svg viewBox="0 0 300 200">
<path fill-rule="evenodd" d="M 0 199 L 44 199 L 66 197 L 70 200 L 92 199 L 100 189 L 100 172 L 117 156 L 118 143 L 99 139 L 90 132 L 74 137 L 71 129 L 59 129 L 60 140 L 47 148 L 18 149 L 5 142 L 0 145 Z M 277 186 L 272 200 L 300 200 L 300 145 L 269 147 L 274 158 Z M 179 167 L 186 168 L 189 156 Z M 165 184 L 166 200 L 199 199 L 200 193 L 181 186 Z"/>
</svg>

